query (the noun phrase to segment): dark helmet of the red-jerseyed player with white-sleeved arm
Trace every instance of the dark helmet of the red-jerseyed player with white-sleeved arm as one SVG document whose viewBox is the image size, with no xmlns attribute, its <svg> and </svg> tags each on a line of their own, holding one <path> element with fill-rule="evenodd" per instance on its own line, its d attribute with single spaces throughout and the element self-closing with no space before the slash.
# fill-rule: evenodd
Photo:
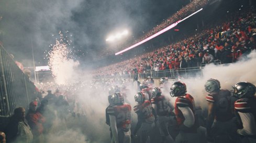
<svg viewBox="0 0 256 143">
<path fill-rule="evenodd" d="M 183 96 L 187 92 L 186 84 L 183 82 L 174 82 L 170 88 L 171 97 Z"/>
</svg>

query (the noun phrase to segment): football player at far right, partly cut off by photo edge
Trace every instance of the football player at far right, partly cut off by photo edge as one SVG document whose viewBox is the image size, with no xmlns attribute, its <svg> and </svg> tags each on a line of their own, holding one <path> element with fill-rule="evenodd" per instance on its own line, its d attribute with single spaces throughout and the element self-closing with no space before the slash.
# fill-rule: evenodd
<svg viewBox="0 0 256 143">
<path fill-rule="evenodd" d="M 249 82 L 239 82 L 233 89 L 233 96 L 238 98 L 235 102 L 236 115 L 240 121 L 237 134 L 241 136 L 242 142 L 256 142 L 256 87 Z"/>
</svg>

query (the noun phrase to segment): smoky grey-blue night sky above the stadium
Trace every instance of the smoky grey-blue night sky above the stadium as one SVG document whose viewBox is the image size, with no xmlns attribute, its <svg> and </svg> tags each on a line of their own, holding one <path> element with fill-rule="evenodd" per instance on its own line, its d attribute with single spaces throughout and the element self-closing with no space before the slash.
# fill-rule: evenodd
<svg viewBox="0 0 256 143">
<path fill-rule="evenodd" d="M 71 40 L 74 59 L 90 62 L 96 51 L 112 47 L 106 37 L 128 29 L 133 39 L 170 17 L 187 0 L 0 0 L 0 40 L 15 60 L 32 66 L 47 64 L 47 53 L 59 31 Z"/>
</svg>

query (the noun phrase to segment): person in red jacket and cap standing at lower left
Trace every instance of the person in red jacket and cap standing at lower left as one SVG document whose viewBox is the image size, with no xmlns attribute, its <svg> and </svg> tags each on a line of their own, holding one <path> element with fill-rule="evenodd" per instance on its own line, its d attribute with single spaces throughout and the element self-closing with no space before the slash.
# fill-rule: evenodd
<svg viewBox="0 0 256 143">
<path fill-rule="evenodd" d="M 43 142 L 43 125 L 46 119 L 42 116 L 40 112 L 37 111 L 38 102 L 32 101 L 29 104 L 29 110 L 26 115 L 28 125 L 31 128 L 32 134 L 34 136 L 34 142 Z"/>
</svg>

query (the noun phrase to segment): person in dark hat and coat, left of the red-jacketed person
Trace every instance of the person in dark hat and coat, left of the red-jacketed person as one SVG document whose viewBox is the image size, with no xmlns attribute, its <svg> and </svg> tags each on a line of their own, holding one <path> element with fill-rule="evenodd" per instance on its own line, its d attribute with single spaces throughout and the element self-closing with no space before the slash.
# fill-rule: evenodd
<svg viewBox="0 0 256 143">
<path fill-rule="evenodd" d="M 7 142 L 32 142 L 33 134 L 25 119 L 25 112 L 23 107 L 14 110 L 14 115 L 5 129 Z"/>
</svg>

